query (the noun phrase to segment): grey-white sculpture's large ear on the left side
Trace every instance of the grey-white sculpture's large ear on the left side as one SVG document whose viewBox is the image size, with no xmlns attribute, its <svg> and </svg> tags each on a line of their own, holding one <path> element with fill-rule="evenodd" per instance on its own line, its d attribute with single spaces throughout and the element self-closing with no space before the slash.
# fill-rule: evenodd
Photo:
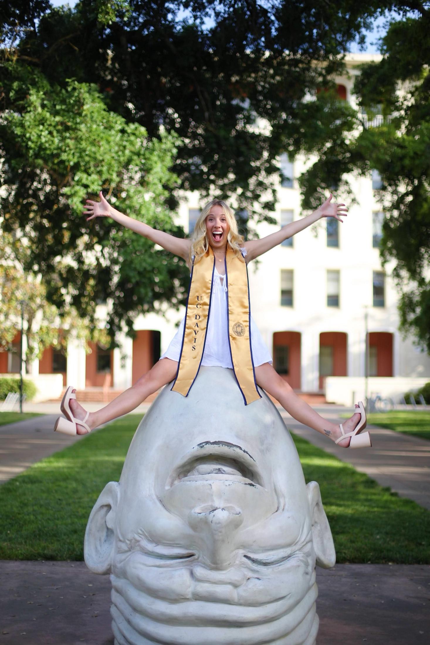
<svg viewBox="0 0 430 645">
<path fill-rule="evenodd" d="M 119 483 L 109 482 L 101 491 L 88 519 L 84 539 L 85 564 L 93 573 L 110 573 L 115 546 L 115 519 Z"/>
</svg>

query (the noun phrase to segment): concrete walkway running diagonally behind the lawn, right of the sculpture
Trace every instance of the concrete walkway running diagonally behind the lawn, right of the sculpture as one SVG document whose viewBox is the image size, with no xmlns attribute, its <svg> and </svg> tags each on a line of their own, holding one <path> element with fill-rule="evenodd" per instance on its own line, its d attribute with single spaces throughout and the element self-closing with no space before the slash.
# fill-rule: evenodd
<svg viewBox="0 0 430 645">
<path fill-rule="evenodd" d="M 342 413 L 351 409 L 342 406 L 325 405 L 314 407 L 325 419 L 342 422 Z M 389 486 L 402 497 L 413 499 L 430 510 L 430 441 L 368 425 L 372 448 L 345 450 L 333 441 L 310 428 L 302 426 L 280 408 L 285 425 L 296 435 L 307 439 L 314 446 L 335 455 L 342 461 L 376 479 L 381 486 Z M 430 424 L 430 413 L 429 413 Z"/>
</svg>

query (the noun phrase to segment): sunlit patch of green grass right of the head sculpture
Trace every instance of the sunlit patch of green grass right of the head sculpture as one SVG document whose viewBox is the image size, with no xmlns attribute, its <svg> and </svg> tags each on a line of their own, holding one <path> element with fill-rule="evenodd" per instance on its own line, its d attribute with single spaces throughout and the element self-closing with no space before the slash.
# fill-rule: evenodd
<svg viewBox="0 0 430 645">
<path fill-rule="evenodd" d="M 338 562 L 430 562 L 430 513 L 292 435 L 305 480 L 320 484 Z"/>
</svg>

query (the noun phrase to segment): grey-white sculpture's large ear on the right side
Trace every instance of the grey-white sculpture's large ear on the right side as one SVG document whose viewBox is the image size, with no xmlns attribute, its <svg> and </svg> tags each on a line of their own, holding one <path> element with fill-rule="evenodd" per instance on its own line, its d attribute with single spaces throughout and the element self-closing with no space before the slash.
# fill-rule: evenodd
<svg viewBox="0 0 430 645">
<path fill-rule="evenodd" d="M 322 505 L 320 486 L 316 482 L 309 482 L 306 485 L 306 491 L 311 508 L 316 564 L 323 569 L 329 569 L 336 564 L 336 551 L 334 551 L 329 521 Z"/>
</svg>

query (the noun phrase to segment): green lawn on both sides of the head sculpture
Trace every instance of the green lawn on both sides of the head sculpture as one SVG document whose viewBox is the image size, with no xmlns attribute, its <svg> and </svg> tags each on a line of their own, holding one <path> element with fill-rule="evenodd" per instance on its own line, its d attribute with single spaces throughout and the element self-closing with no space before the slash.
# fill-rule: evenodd
<svg viewBox="0 0 430 645">
<path fill-rule="evenodd" d="M 139 419 L 119 419 L 0 486 L 0 559 L 83 558 L 90 510 L 103 486 L 118 481 Z M 429 511 L 294 441 L 306 480 L 320 484 L 338 562 L 430 563 Z"/>
</svg>

